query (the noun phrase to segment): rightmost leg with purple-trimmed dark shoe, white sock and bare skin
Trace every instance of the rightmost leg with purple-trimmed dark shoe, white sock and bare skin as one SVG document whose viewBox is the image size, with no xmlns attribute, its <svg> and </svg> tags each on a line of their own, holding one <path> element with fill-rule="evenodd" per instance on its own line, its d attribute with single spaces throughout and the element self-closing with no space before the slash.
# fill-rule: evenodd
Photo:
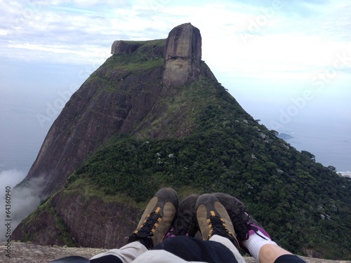
<svg viewBox="0 0 351 263">
<path fill-rule="evenodd" d="M 229 194 L 214 193 L 213 195 L 218 198 L 230 215 L 240 247 L 248 251 L 257 262 L 282 263 L 279 260 L 283 259 L 288 263 L 304 262 L 303 259 L 272 241 L 267 231 L 247 211 L 244 203 Z"/>
</svg>

